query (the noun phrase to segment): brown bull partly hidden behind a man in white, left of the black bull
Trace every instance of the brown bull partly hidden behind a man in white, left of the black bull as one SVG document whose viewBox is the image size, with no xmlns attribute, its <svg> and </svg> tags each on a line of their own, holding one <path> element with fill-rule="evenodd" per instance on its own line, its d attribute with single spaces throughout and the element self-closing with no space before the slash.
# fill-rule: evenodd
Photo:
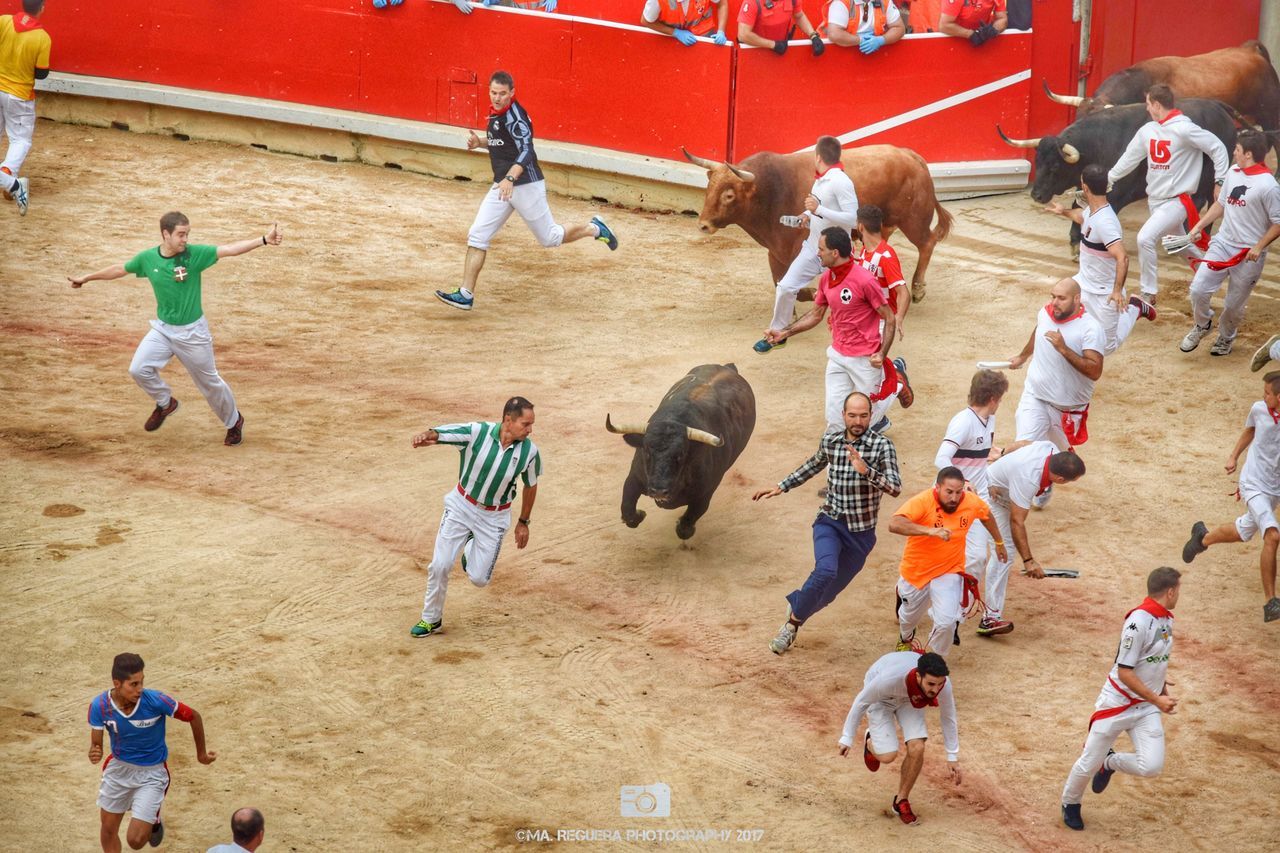
<svg viewBox="0 0 1280 853">
<path fill-rule="evenodd" d="M 707 199 L 698 227 L 705 234 L 728 225 L 741 227 L 768 250 L 769 272 L 774 282 L 780 280 L 809 232 L 787 228 L 778 216 L 804 210 L 804 197 L 813 188 L 813 154 L 760 151 L 736 167 L 689 151 L 685 156 L 707 169 Z M 924 158 L 892 145 L 868 145 L 846 149 L 841 161 L 854 182 L 858 202 L 881 207 L 886 234 L 899 229 L 919 251 L 911 275 L 911 300 L 919 302 L 924 298 L 924 273 L 933 247 L 951 233 L 951 214 L 933 193 Z M 931 229 L 934 213 L 938 224 Z"/>
</svg>

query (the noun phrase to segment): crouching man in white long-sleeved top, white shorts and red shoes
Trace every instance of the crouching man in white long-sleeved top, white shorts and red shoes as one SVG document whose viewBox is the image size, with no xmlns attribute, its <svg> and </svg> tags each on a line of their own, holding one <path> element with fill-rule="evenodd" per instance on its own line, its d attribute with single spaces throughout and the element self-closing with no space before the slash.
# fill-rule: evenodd
<svg viewBox="0 0 1280 853">
<path fill-rule="evenodd" d="M 840 754 L 847 756 L 854 745 L 854 735 L 867 717 L 867 736 L 863 739 L 863 762 L 876 772 L 881 765 L 897 760 L 897 729 L 902 729 L 906 757 L 897 779 L 893 813 L 910 826 L 920 818 L 911 811 L 908 797 L 924 766 L 924 743 L 929 729 L 924 722 L 924 710 L 938 708 L 942 717 L 942 743 L 947 751 L 947 770 L 955 784 L 960 784 L 960 734 L 956 729 L 956 702 L 951 693 L 951 671 L 941 654 L 928 652 L 890 652 L 872 663 L 863 679 L 863 689 L 845 717 L 845 730 L 840 735 Z"/>
</svg>

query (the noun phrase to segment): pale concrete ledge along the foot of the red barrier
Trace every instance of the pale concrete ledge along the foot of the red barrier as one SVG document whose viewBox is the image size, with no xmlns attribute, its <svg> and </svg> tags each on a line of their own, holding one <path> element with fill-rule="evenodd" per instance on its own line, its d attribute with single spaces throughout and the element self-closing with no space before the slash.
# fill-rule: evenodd
<svg viewBox="0 0 1280 853">
<path fill-rule="evenodd" d="M 443 178 L 486 182 L 488 158 L 468 152 L 465 132 L 383 115 L 305 104 L 202 92 L 154 83 L 52 73 L 37 81 L 42 118 L 73 124 L 123 127 L 270 151 L 402 168 Z M 553 192 L 649 210 L 701 210 L 707 186 L 691 164 L 538 141 Z M 1016 192 L 1027 186 L 1025 160 L 932 164 L 943 199 Z"/>
</svg>

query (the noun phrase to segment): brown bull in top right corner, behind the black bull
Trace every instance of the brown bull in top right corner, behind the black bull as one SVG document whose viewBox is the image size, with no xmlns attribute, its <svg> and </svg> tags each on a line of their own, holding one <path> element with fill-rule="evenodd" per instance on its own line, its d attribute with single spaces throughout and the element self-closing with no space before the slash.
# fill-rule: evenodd
<svg viewBox="0 0 1280 853">
<path fill-rule="evenodd" d="M 1244 120 L 1263 131 L 1280 131 L 1280 77 L 1271 55 L 1257 41 L 1239 47 L 1222 47 L 1196 56 L 1156 56 L 1107 77 L 1092 97 L 1044 92 L 1068 106 L 1078 108 L 1076 118 L 1121 104 L 1142 104 L 1147 90 L 1165 83 L 1178 97 L 1206 97 L 1222 101 Z M 1280 155 L 1280 141 L 1271 136 Z"/>
</svg>

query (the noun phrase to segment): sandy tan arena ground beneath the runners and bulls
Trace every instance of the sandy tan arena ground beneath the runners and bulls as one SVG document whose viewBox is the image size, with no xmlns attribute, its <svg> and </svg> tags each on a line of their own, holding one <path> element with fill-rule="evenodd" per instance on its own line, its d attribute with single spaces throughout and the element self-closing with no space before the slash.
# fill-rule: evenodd
<svg viewBox="0 0 1280 853">
<path fill-rule="evenodd" d="M 1247 365 L 1280 328 L 1280 261 L 1226 359 L 1208 356 L 1211 341 L 1178 351 L 1189 275 L 1162 265 L 1160 320 L 1107 360 L 1080 451 L 1088 475 L 1032 519 L 1036 555 L 1082 576 L 1015 575 L 1018 630 L 963 633 L 951 662 L 964 784 L 947 784 L 933 715 L 911 798 L 922 824 L 906 830 L 887 816 L 896 768 L 872 776 L 836 751 L 863 674 L 895 642 L 902 540 L 884 524 L 900 501 L 882 506 L 879 546 L 846 593 L 788 654 L 767 648 L 812 566 L 819 483 L 749 497 L 813 451 L 824 342 L 815 329 L 751 352 L 772 295 L 741 231 L 708 238 L 687 216 L 604 209 L 617 254 L 544 251 L 516 220 L 462 314 L 431 291 L 458 280 L 481 186 L 47 122 L 26 172 L 31 214 L 0 209 L 0 849 L 97 849 L 84 717 L 122 651 L 146 658 L 148 686 L 204 715 L 218 752 L 200 766 L 187 726 L 170 722 L 170 850 L 228 840 L 243 804 L 266 813 L 270 850 L 704 827 L 763 836 L 667 847 L 1275 844 L 1280 628 L 1261 621 L 1256 544 L 1215 548 L 1187 574 L 1164 775 L 1089 794 L 1083 834 L 1060 824 L 1059 795 L 1147 573 L 1181 567 L 1192 521 L 1239 512 L 1222 460 L 1261 396 Z M 150 287 L 73 291 L 64 278 L 154 245 L 173 207 L 193 242 L 284 228 L 283 247 L 205 278 L 219 366 L 246 416 L 238 448 L 177 362 L 165 375 L 183 406 L 145 433 L 151 402 L 128 365 L 154 316 Z M 602 211 L 553 209 L 561 222 Z M 1050 283 L 1073 270 L 1065 224 L 1025 195 L 948 209 L 956 233 L 895 348 L 918 398 L 893 412 L 905 494 L 929 484 L 973 362 L 1015 353 Z M 1130 251 L 1140 214 L 1124 216 Z M 645 418 L 708 361 L 735 361 L 754 387 L 751 443 L 690 543 L 648 501 L 630 530 L 618 503 L 631 451 L 604 415 Z M 1023 373 L 1011 379 L 1005 442 Z M 488 589 L 454 575 L 447 633 L 410 639 L 457 474 L 452 451 L 410 438 L 495 418 L 512 393 L 536 403 L 545 456 L 530 544 L 508 540 Z M 621 785 L 658 781 L 669 818 L 620 816 Z"/>
</svg>

